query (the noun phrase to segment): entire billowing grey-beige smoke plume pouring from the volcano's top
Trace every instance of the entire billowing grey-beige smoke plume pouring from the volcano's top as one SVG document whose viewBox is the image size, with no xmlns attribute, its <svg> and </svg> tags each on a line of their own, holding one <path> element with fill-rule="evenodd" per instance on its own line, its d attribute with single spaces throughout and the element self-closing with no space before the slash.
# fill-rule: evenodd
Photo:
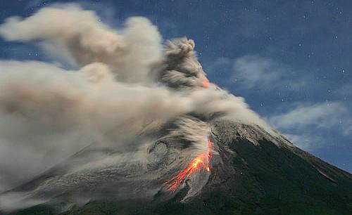
<svg viewBox="0 0 352 215">
<path fill-rule="evenodd" d="M 163 46 L 146 18 L 129 18 L 112 30 L 94 11 L 70 4 L 8 18 L 0 34 L 7 41 L 34 41 L 79 68 L 0 61 L 0 189 L 92 143 L 122 155 L 139 153 L 142 143 L 160 138 L 156 131 L 165 124 L 176 125 L 166 136 L 181 136 L 195 152 L 206 150 L 207 122 L 215 117 L 270 131 L 243 98 L 209 83 L 194 41 L 175 39 Z M 135 160 L 143 163 L 146 157 L 137 154 Z"/>
</svg>

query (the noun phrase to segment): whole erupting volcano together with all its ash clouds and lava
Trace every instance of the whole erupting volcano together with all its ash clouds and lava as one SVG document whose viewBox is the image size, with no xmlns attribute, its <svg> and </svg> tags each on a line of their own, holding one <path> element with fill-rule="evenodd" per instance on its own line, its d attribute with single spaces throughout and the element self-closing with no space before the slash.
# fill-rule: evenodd
<svg viewBox="0 0 352 215">
<path fill-rule="evenodd" d="M 0 213 L 351 214 L 351 174 L 210 83 L 194 41 L 123 26 L 73 4 L 0 25 L 66 64 L 0 61 Z"/>
</svg>

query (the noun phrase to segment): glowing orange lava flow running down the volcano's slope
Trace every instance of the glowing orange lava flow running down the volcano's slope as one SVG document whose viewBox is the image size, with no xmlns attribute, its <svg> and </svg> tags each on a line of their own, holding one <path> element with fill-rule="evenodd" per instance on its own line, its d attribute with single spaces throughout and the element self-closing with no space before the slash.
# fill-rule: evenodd
<svg viewBox="0 0 352 215">
<path fill-rule="evenodd" d="M 213 150 L 213 141 L 208 140 L 208 150 L 206 152 L 201 153 L 196 158 L 194 158 L 189 164 L 187 168 L 177 174 L 173 178 L 168 181 L 165 181 L 163 185 L 168 185 L 168 191 L 175 192 L 178 186 L 184 181 L 184 179 L 189 178 L 191 174 L 194 174 L 196 171 L 201 171 L 202 169 L 205 171 L 210 171 L 210 159 L 212 157 Z"/>
</svg>

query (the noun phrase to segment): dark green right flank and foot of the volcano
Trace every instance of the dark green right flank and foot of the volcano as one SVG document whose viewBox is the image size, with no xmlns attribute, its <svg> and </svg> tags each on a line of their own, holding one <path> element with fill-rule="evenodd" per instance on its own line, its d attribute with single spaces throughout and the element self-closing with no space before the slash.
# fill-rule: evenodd
<svg viewBox="0 0 352 215">
<path fill-rule="evenodd" d="M 199 183 L 189 179 L 175 195 L 159 189 L 151 198 L 104 197 L 71 205 L 61 213 L 351 214 L 351 174 L 294 147 L 281 136 L 271 136 L 259 126 L 228 121 L 211 125 L 217 153 L 206 184 L 197 195 L 187 197 L 194 183 Z M 165 150 L 172 150 L 172 141 L 164 143 Z M 107 172 L 107 178 L 120 178 Z M 46 181 L 44 178 L 41 180 Z M 15 214 L 55 214 L 63 206 L 42 204 Z"/>
</svg>

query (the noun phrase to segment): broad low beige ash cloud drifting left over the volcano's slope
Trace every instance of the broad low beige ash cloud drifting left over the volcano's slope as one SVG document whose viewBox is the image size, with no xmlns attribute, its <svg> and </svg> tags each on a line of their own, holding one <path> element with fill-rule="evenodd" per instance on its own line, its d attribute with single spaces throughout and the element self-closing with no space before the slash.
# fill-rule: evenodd
<svg viewBox="0 0 352 215">
<path fill-rule="evenodd" d="M 145 124 L 195 108 L 180 93 L 114 82 L 100 64 L 67 71 L 46 63 L 0 61 L 0 70 L 1 179 L 12 184 L 94 141 L 126 150 L 126 141 Z"/>
</svg>

